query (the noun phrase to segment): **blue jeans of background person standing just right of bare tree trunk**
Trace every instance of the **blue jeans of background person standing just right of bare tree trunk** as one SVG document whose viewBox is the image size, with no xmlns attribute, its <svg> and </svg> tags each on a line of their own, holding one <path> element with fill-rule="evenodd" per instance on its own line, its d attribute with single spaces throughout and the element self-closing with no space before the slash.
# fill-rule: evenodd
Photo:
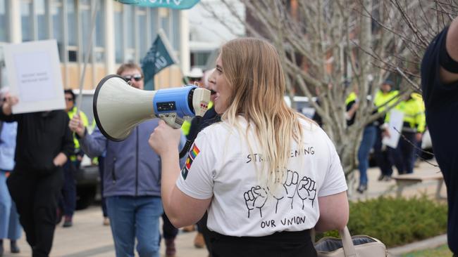
<svg viewBox="0 0 458 257">
<path fill-rule="evenodd" d="M 376 143 L 376 127 L 366 126 L 363 132 L 363 138 L 358 150 L 358 169 L 359 169 L 359 185 L 367 185 L 367 169 L 369 168 L 369 152 Z"/>
</svg>

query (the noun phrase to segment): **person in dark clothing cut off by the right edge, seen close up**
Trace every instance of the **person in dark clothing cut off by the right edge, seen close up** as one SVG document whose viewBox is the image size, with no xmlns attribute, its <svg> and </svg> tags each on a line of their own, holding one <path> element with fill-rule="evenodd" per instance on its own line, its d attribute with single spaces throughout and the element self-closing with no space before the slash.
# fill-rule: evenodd
<svg viewBox="0 0 458 257">
<path fill-rule="evenodd" d="M 458 18 L 428 46 L 421 62 L 426 122 L 447 185 L 447 242 L 458 254 Z"/>
</svg>

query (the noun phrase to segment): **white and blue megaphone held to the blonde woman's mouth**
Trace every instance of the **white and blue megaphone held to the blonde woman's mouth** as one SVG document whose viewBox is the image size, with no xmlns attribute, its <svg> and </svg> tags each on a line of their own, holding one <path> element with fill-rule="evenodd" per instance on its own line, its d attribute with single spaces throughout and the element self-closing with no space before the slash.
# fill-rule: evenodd
<svg viewBox="0 0 458 257">
<path fill-rule="evenodd" d="M 130 86 L 123 77 L 108 75 L 97 85 L 92 107 L 100 132 L 121 141 L 135 126 L 156 117 L 179 129 L 186 117 L 204 116 L 209 102 L 210 91 L 194 85 L 144 91 Z"/>
</svg>

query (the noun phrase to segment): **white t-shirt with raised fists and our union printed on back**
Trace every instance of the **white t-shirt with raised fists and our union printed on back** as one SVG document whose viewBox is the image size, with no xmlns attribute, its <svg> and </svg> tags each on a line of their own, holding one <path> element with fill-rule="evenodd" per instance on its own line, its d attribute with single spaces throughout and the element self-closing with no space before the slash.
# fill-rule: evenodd
<svg viewBox="0 0 458 257">
<path fill-rule="evenodd" d="M 247 122 L 239 119 L 242 132 Z M 259 185 L 252 134 L 245 136 L 226 122 L 213 124 L 197 136 L 190 150 L 178 188 L 190 197 L 209 199 L 207 227 L 223 235 L 261 237 L 280 231 L 314 228 L 319 217 L 318 199 L 347 190 L 335 147 L 316 124 L 302 121 L 302 149 L 293 143 L 287 175 L 278 190 Z M 292 140 L 294 142 L 294 140 Z M 266 168 L 267 165 L 264 164 Z"/>
</svg>

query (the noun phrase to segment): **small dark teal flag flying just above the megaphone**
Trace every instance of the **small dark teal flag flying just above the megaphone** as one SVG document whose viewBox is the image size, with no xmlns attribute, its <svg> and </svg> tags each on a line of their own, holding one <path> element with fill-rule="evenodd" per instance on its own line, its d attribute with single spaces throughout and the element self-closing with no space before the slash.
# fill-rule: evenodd
<svg viewBox="0 0 458 257">
<path fill-rule="evenodd" d="M 153 45 L 142 59 L 145 89 L 154 89 L 154 75 L 163 68 L 175 63 L 178 63 L 178 60 L 173 55 L 173 50 L 170 43 L 168 43 L 166 34 L 160 29 Z"/>
</svg>

